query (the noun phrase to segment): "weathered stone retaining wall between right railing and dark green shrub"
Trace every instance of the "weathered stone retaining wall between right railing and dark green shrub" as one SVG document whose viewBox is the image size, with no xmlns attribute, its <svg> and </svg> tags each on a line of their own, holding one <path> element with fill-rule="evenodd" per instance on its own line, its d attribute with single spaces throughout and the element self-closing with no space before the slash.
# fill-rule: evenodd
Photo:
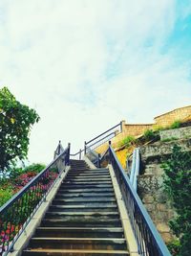
<svg viewBox="0 0 191 256">
<path fill-rule="evenodd" d="M 140 148 L 142 172 L 138 175 L 138 196 L 165 243 L 175 238 L 168 222 L 176 216 L 176 212 L 164 191 L 161 163 L 169 158 L 175 144 L 178 144 L 182 151 L 191 151 L 191 138 L 156 142 Z"/>
</svg>

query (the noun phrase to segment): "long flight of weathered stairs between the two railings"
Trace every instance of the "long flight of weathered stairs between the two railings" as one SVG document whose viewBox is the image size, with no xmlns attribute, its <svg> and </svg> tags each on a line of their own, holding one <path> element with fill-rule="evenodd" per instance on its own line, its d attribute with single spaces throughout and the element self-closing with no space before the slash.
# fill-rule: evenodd
<svg viewBox="0 0 191 256">
<path fill-rule="evenodd" d="M 71 160 L 71 170 L 22 253 L 45 255 L 129 255 L 108 169 Z"/>
</svg>

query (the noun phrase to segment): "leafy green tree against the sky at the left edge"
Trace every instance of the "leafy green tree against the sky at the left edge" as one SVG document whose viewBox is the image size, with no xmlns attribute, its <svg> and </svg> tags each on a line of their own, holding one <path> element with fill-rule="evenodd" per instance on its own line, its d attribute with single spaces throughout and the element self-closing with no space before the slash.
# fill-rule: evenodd
<svg viewBox="0 0 191 256">
<path fill-rule="evenodd" d="M 7 87 L 0 90 L 0 172 L 5 175 L 16 160 L 27 158 L 36 111 L 16 101 Z"/>
</svg>

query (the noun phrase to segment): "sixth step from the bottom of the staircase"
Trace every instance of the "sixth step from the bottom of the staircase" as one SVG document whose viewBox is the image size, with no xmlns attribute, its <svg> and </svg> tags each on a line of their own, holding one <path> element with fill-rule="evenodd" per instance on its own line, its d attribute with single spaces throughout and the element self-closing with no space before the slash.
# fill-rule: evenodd
<svg viewBox="0 0 191 256">
<path fill-rule="evenodd" d="M 117 204 L 109 203 L 94 203 L 94 204 L 77 204 L 77 205 L 51 205 L 50 211 L 59 211 L 59 212 L 107 212 L 107 211 L 116 211 Z"/>
</svg>

